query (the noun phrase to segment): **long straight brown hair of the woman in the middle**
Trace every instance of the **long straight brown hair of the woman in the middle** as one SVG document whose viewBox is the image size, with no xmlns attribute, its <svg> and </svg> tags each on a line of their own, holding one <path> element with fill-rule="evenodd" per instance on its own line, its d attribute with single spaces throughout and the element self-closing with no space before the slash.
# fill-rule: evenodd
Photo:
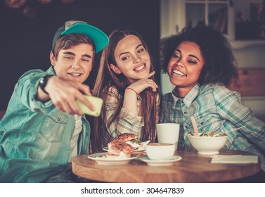
<svg viewBox="0 0 265 197">
<path fill-rule="evenodd" d="M 93 129 L 91 131 L 91 151 L 102 151 L 102 148 L 106 146 L 111 139 L 110 134 L 108 134 L 107 128 L 110 124 L 117 118 L 119 118 L 120 110 L 123 106 L 123 98 L 125 89 L 131 84 L 127 77 L 123 74 L 117 75 L 110 68 L 110 64 L 117 65 L 115 62 L 114 51 L 116 49 L 117 43 L 126 37 L 127 35 L 135 35 L 141 40 L 143 47 L 148 51 L 146 43 L 143 41 L 141 36 L 134 30 L 114 30 L 109 36 L 109 44 L 103 50 L 101 56 L 100 68 L 98 70 L 98 75 L 96 77 L 96 82 L 93 89 L 93 95 L 103 98 L 106 101 L 108 96 L 108 90 L 111 87 L 115 87 L 119 94 L 118 104 L 115 112 L 112 114 L 108 122 L 104 122 L 106 115 L 105 102 L 103 103 L 103 110 L 100 117 L 93 118 Z M 150 72 L 154 70 L 153 62 L 151 59 Z M 150 79 L 155 80 L 155 77 L 150 77 Z M 141 129 L 141 140 L 155 141 L 155 125 L 157 123 L 157 96 L 158 92 L 153 92 L 152 89 L 148 88 L 141 92 L 140 96 L 142 98 L 141 115 L 144 120 L 144 127 Z M 117 97 L 117 95 L 115 96 Z M 108 137 L 106 137 L 108 136 Z"/>
</svg>

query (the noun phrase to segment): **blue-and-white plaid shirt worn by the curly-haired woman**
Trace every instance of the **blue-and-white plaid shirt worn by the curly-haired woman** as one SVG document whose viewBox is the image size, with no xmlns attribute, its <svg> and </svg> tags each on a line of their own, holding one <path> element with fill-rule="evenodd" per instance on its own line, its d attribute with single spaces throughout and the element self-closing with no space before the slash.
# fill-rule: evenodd
<svg viewBox="0 0 265 197">
<path fill-rule="evenodd" d="M 179 146 L 191 146 L 188 134 L 193 133 L 190 117 L 194 116 L 199 132 L 226 132 L 225 148 L 259 155 L 265 171 L 265 123 L 243 106 L 240 94 L 219 84 L 195 85 L 184 98 L 176 88 L 162 98 L 160 122 L 181 125 Z M 231 129 L 243 127 L 234 132 Z"/>
</svg>

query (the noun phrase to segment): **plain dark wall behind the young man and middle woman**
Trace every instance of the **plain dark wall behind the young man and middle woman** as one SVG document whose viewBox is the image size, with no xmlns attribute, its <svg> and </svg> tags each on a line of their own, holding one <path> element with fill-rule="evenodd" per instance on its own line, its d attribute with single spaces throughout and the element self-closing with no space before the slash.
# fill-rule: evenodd
<svg viewBox="0 0 265 197">
<path fill-rule="evenodd" d="M 145 39 L 158 67 L 160 0 L 75 0 L 71 4 L 59 0 L 50 4 L 39 4 L 37 0 L 29 2 L 37 10 L 34 18 L 23 15 L 25 6 L 12 9 L 4 4 L 4 0 L 0 2 L 0 110 L 6 109 L 20 75 L 30 69 L 49 68 L 53 34 L 66 20 L 84 20 L 106 34 L 116 28 L 136 30 Z M 95 69 L 87 81 L 91 87 L 100 56 L 98 53 Z M 156 75 L 158 80 L 158 72 Z"/>
</svg>

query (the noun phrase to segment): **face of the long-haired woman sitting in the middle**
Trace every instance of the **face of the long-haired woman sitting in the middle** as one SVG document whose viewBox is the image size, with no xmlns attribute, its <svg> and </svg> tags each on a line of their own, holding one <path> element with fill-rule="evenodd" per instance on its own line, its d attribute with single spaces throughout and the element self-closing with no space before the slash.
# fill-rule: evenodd
<svg viewBox="0 0 265 197">
<path fill-rule="evenodd" d="M 114 51 L 117 65 L 110 64 L 112 70 L 125 75 L 130 82 L 136 82 L 150 73 L 150 56 L 141 40 L 135 35 L 121 39 Z"/>
</svg>

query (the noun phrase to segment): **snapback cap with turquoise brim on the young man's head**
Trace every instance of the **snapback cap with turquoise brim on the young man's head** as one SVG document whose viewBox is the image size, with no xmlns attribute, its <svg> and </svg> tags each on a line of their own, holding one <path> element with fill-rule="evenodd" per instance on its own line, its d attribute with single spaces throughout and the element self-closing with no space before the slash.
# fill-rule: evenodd
<svg viewBox="0 0 265 197">
<path fill-rule="evenodd" d="M 66 34 L 85 34 L 87 37 L 90 37 L 96 46 L 96 53 L 104 49 L 109 41 L 108 36 L 97 27 L 89 25 L 84 21 L 70 20 L 57 30 L 53 37 L 52 49 L 56 45 L 58 38 Z"/>
</svg>

